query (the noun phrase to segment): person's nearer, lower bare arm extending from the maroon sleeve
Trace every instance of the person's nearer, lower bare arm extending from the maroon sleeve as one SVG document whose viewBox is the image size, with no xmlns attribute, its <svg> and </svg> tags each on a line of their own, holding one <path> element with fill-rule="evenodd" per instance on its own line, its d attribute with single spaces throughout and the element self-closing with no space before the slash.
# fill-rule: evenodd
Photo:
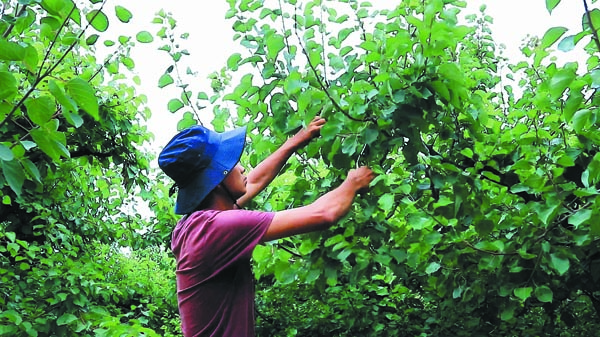
<svg viewBox="0 0 600 337">
<path fill-rule="evenodd" d="M 373 178 L 367 167 L 352 170 L 340 186 L 312 204 L 275 213 L 262 242 L 330 227 L 348 213 L 357 193 L 365 191 Z"/>
</svg>

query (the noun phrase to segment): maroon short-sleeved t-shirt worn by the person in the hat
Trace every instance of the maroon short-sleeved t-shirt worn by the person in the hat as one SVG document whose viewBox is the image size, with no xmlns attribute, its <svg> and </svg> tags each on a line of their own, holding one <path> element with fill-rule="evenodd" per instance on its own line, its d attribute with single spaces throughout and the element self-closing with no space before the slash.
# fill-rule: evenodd
<svg viewBox="0 0 600 337">
<path fill-rule="evenodd" d="M 274 213 L 199 211 L 173 231 L 183 335 L 254 336 L 250 258 Z"/>
</svg>

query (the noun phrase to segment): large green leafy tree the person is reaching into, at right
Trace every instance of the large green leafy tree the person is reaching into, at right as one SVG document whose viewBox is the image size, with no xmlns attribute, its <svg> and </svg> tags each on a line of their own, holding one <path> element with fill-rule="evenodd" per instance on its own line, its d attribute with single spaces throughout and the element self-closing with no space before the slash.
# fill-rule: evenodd
<svg viewBox="0 0 600 337">
<path fill-rule="evenodd" d="M 581 32 L 551 28 L 512 64 L 485 6 L 461 20 L 463 1 L 405 0 L 386 10 L 366 1 L 231 1 L 227 17 L 245 52 L 227 61 L 242 75 L 215 100 L 215 125 L 248 124 L 244 160 L 253 166 L 314 116 L 328 121 L 256 206 L 303 205 L 358 165 L 379 174 L 332 231 L 257 250 L 257 275 L 267 280 L 261 301 L 280 300 L 273 286 L 286 294 L 308 285 L 318 291 L 302 292 L 308 305 L 299 315 L 316 319 L 313 306 L 356 308 L 324 294 L 352 289 L 349 297 L 370 303 L 365 280 L 384 279 L 388 293 L 367 316 L 384 326 L 401 326 L 405 292 L 428 308 L 425 335 L 595 329 L 600 12 L 585 4 Z M 552 56 L 554 47 L 578 46 L 588 52 L 583 62 Z M 385 321 L 375 313 L 388 301 L 403 309 Z M 281 328 L 262 322 L 307 334 L 303 319 L 277 317 Z M 354 326 L 355 315 L 343 317 Z M 354 334 L 385 335 L 377 326 Z"/>
</svg>

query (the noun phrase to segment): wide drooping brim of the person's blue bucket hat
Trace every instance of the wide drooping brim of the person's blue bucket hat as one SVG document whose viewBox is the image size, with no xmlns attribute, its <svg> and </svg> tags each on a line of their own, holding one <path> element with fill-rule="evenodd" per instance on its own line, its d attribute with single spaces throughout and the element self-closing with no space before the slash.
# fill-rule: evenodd
<svg viewBox="0 0 600 337">
<path fill-rule="evenodd" d="M 180 186 L 175 203 L 175 214 L 194 211 L 206 196 L 231 172 L 242 157 L 246 144 L 246 127 L 222 133 L 211 132 L 210 142 L 219 144 L 214 157 L 202 172 L 196 173 L 188 184 Z"/>
</svg>

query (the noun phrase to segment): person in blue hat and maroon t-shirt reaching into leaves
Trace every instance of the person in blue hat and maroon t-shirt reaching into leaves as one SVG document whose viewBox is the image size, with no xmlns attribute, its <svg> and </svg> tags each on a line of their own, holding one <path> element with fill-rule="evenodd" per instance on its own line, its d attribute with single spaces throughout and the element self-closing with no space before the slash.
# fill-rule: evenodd
<svg viewBox="0 0 600 337">
<path fill-rule="evenodd" d="M 193 126 L 161 151 L 159 166 L 178 188 L 175 213 L 183 215 L 171 249 L 184 336 L 254 336 L 254 247 L 328 228 L 367 191 L 374 174 L 360 167 L 309 205 L 278 212 L 243 209 L 324 124 L 321 117 L 313 119 L 247 176 L 239 163 L 246 127 L 217 133 Z"/>
</svg>

